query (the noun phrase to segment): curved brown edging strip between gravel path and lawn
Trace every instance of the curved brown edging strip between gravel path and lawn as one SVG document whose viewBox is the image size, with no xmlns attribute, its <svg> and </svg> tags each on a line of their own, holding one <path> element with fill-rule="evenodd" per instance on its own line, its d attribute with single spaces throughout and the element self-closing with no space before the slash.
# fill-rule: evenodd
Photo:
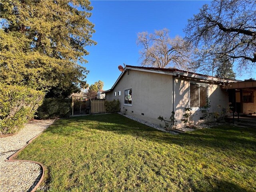
<svg viewBox="0 0 256 192">
<path fill-rule="evenodd" d="M 56 122 L 57 119 L 54 120 L 54 122 Z M 52 124 L 54 124 L 54 122 Z M 50 124 L 50 125 L 52 125 Z M 49 125 L 49 126 L 50 126 Z M 49 127 L 48 126 L 48 127 Z M 47 128 L 48 128 L 47 127 Z M 46 128 L 46 129 L 47 129 Z M 42 134 L 44 131 L 42 131 L 40 134 Z M 35 163 L 35 164 L 38 164 L 41 168 L 42 168 L 42 176 L 40 178 L 40 180 L 38 181 L 38 183 L 36 184 L 36 186 L 33 187 L 33 189 L 30 191 L 30 192 L 35 192 L 36 189 L 39 187 L 39 185 L 41 184 L 41 182 L 43 181 L 43 178 L 44 178 L 44 166 L 42 164 L 40 164 L 39 162 L 36 162 L 36 161 L 31 161 L 31 160 L 13 160 L 13 158 L 15 158 L 18 153 L 20 151 L 22 151 L 24 148 L 26 148 L 26 146 L 28 146 L 28 144 L 30 144 L 33 140 L 35 140 L 40 134 L 38 134 L 37 136 L 33 137 L 32 139 L 30 139 L 27 144 L 25 146 L 23 146 L 22 148 L 20 148 L 18 151 L 16 151 L 14 154 L 12 154 L 11 156 L 9 156 L 5 162 L 15 162 L 15 161 L 20 161 L 20 162 L 31 162 L 31 163 Z"/>
</svg>

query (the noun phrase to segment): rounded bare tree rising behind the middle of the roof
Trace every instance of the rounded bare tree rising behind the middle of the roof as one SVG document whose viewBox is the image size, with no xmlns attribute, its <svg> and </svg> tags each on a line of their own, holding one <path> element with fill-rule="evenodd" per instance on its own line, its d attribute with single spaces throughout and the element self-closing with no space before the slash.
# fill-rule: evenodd
<svg viewBox="0 0 256 192">
<path fill-rule="evenodd" d="M 142 47 L 142 66 L 187 69 L 190 61 L 188 46 L 180 36 L 170 38 L 168 29 L 155 30 L 152 34 L 140 32 L 137 44 Z"/>
</svg>

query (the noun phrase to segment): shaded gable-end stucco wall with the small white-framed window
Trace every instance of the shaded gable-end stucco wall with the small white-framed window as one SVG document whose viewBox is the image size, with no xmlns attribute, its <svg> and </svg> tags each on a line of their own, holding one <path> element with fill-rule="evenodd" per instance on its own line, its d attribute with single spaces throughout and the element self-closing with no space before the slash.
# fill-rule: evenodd
<svg viewBox="0 0 256 192">
<path fill-rule="evenodd" d="M 127 88 L 132 88 L 132 106 L 124 105 L 124 89 Z M 172 76 L 136 70 L 130 70 L 128 75 L 126 71 L 114 90 L 106 93 L 106 99 L 118 99 L 121 110 L 127 109 L 126 114 L 159 124 L 159 115 L 170 117 L 172 111 Z"/>
</svg>

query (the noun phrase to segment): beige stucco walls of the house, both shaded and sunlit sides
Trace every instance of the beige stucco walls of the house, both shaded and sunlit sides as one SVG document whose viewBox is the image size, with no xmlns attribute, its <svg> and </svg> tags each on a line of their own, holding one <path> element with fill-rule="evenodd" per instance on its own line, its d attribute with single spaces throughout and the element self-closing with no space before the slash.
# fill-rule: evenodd
<svg viewBox="0 0 256 192">
<path fill-rule="evenodd" d="M 169 120 L 173 105 L 173 78 L 171 74 L 159 74 L 154 72 L 145 72 L 139 70 L 125 71 L 122 77 L 114 86 L 113 90 L 106 92 L 106 99 L 120 100 L 120 109 L 126 108 L 126 114 L 144 119 L 149 122 L 160 124 L 159 116 L 166 117 Z M 179 77 L 174 85 L 174 111 L 175 118 L 178 120 L 177 127 L 181 126 L 181 120 L 184 118 L 184 108 L 188 108 L 190 95 L 190 82 L 198 83 L 199 80 L 188 80 Z M 228 106 L 228 94 L 221 90 L 217 84 L 200 82 L 208 85 L 208 96 L 210 98 L 210 112 L 220 112 L 222 107 Z M 132 106 L 124 104 L 124 90 L 132 88 Z M 118 91 L 121 95 L 118 96 Z M 114 96 L 116 92 L 116 96 Z M 142 115 L 142 113 L 144 115 Z M 194 123 L 198 122 L 202 113 L 199 108 L 192 111 Z"/>
</svg>

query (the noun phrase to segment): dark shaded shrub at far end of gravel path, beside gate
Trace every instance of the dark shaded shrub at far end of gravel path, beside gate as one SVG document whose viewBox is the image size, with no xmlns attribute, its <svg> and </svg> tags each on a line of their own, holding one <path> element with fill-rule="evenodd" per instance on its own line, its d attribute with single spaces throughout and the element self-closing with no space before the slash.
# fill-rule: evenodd
<svg viewBox="0 0 256 192">
<path fill-rule="evenodd" d="M 72 110 L 71 103 L 72 99 L 45 98 L 36 116 L 38 119 L 69 117 Z"/>
</svg>

